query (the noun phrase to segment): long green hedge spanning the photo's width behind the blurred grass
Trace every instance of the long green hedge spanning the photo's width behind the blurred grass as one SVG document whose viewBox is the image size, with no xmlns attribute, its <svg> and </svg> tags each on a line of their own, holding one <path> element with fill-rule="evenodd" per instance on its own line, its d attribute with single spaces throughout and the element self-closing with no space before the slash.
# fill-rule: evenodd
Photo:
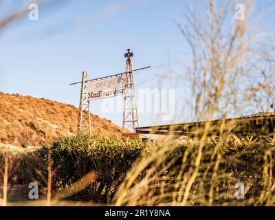
<svg viewBox="0 0 275 220">
<path fill-rule="evenodd" d="M 192 144 L 190 144 L 192 143 Z M 151 175 L 167 166 L 163 173 L 153 179 L 154 192 L 150 196 L 157 196 L 164 192 L 175 192 L 178 175 L 189 178 L 195 168 L 195 160 L 199 142 L 186 141 L 181 144 L 165 142 L 141 143 L 134 140 L 120 140 L 118 137 L 104 137 L 101 135 L 77 135 L 61 137 L 48 148 L 44 146 L 37 151 L 7 151 L 0 149 L 0 167 L 3 168 L 4 153 L 10 158 L 9 183 L 29 184 L 36 181 L 41 192 L 45 195 L 47 187 L 47 165 L 49 151 L 52 152 L 53 197 L 61 190 L 72 190 L 76 181 L 81 181 L 85 175 L 94 172 L 95 181 L 74 195 L 64 197 L 72 201 L 93 201 L 94 203 L 110 203 L 122 185 L 129 170 L 135 170 L 142 157 L 153 157 L 154 154 L 166 148 L 163 162 L 156 165 L 157 157 L 148 162 L 133 181 L 137 184 L 153 168 Z M 169 150 L 170 149 L 170 150 Z M 188 152 L 186 154 L 186 152 Z M 140 157 L 142 155 L 142 157 Z M 185 163 L 182 158 L 187 155 Z M 217 163 L 217 157 L 220 157 Z M 208 192 L 213 190 L 214 205 L 231 203 L 234 201 L 234 184 L 243 181 L 249 185 L 245 197 L 259 199 L 261 193 L 270 187 L 270 173 L 274 173 L 275 146 L 272 139 L 242 140 L 225 138 L 221 142 L 209 139 L 203 144 L 203 152 L 199 173 L 192 184 L 190 197 L 194 201 L 203 197 L 206 201 Z M 136 162 L 134 164 L 134 162 Z M 134 166 L 133 166 L 134 164 Z M 218 164 L 218 167 L 215 166 Z M 183 166 L 184 165 L 184 166 Z M 181 170 L 181 168 L 183 170 Z M 152 170 L 152 169 L 151 169 Z M 0 182 L 3 179 L 3 169 L 0 171 Z M 181 174 L 180 174 L 181 175 Z M 273 178 L 274 179 L 274 178 Z M 141 186 L 143 186 L 141 184 Z M 132 186 L 131 186 L 132 187 Z M 223 196 L 223 195 L 230 195 Z M 146 193 L 144 195 L 146 197 Z M 172 198 L 165 198 L 172 201 Z M 192 199 L 191 199 L 192 200 Z M 264 203 L 263 199 L 261 199 Z M 195 202 L 194 204 L 199 204 Z"/>
</svg>

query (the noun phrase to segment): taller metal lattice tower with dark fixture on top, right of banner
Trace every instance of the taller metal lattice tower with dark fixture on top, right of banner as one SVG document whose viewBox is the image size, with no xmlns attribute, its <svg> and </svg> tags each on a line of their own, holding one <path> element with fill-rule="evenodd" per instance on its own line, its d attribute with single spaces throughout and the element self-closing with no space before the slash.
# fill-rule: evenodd
<svg viewBox="0 0 275 220">
<path fill-rule="evenodd" d="M 123 110 L 123 124 L 122 132 L 126 129 L 135 132 L 135 128 L 140 126 L 138 120 L 137 101 L 135 98 L 135 79 L 133 76 L 133 65 L 131 57 L 133 53 L 130 49 L 127 50 L 124 57 L 126 59 L 126 76 L 125 76 L 125 90 L 124 90 L 124 110 Z"/>
</svg>

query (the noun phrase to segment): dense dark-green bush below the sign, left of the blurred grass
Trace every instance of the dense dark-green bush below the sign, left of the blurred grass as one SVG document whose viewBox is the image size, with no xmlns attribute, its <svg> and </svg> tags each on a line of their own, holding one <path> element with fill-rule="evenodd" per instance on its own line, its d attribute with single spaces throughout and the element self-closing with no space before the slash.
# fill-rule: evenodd
<svg viewBox="0 0 275 220">
<path fill-rule="evenodd" d="M 98 178 L 90 186 L 66 199 L 106 203 L 124 180 L 126 171 L 140 155 L 144 144 L 118 137 L 77 135 L 62 137 L 52 145 L 53 190 L 71 185 L 94 171 Z M 47 162 L 48 148 L 41 149 Z"/>
</svg>

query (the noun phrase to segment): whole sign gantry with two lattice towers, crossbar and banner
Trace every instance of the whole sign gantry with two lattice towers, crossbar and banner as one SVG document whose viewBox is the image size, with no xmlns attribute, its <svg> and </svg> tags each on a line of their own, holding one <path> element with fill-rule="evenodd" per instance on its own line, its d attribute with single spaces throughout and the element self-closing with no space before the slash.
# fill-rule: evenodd
<svg viewBox="0 0 275 220">
<path fill-rule="evenodd" d="M 91 133 L 91 114 L 90 114 L 90 101 L 98 98 L 108 98 L 112 96 L 118 96 L 121 94 L 124 96 L 124 108 L 123 108 L 123 122 L 122 122 L 122 132 L 127 133 L 129 130 L 135 132 L 135 129 L 140 126 L 138 119 L 138 111 L 137 111 L 137 101 L 135 98 L 135 79 L 134 72 L 139 70 L 148 69 L 148 67 L 142 67 L 140 69 L 133 69 L 131 57 L 133 57 L 133 53 L 130 52 L 130 49 L 127 50 L 126 54 L 124 54 L 126 58 L 126 71 L 120 74 L 114 74 L 110 76 L 105 76 L 101 78 L 88 79 L 88 72 L 83 72 L 82 81 L 77 83 L 71 83 L 69 85 L 77 85 L 81 83 L 80 90 L 80 102 L 79 102 L 79 114 L 78 114 L 78 134 L 79 133 Z M 117 93 L 115 90 L 112 95 L 109 95 L 109 92 L 106 92 L 106 89 L 98 89 L 98 94 L 95 94 L 94 97 L 94 83 L 93 82 L 104 82 L 104 80 L 109 80 L 113 78 L 119 78 L 120 80 L 125 76 L 125 85 L 123 88 L 123 92 Z M 103 83 L 104 84 L 104 83 Z M 100 85 L 100 84 L 99 84 Z M 113 86 L 113 85 L 112 85 Z M 100 87 L 100 86 L 98 86 Z M 111 89 L 118 89 L 121 85 L 118 83 L 117 86 L 111 87 Z M 105 91 L 103 91 L 105 90 Z M 118 89 L 122 90 L 122 89 Z M 103 96 L 104 94 L 105 96 Z M 88 96 L 87 96 L 88 95 Z M 101 96 L 102 95 L 102 96 Z M 91 96 L 91 97 L 90 97 Z"/>
</svg>

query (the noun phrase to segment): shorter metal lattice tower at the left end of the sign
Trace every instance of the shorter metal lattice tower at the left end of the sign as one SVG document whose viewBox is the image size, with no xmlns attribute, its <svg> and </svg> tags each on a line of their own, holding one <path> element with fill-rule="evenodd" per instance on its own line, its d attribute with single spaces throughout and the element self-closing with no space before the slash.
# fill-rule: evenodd
<svg viewBox="0 0 275 220">
<path fill-rule="evenodd" d="M 87 100 L 87 80 L 88 73 L 83 72 L 81 90 L 80 90 L 80 102 L 79 102 L 79 115 L 78 115 L 78 134 L 79 133 L 91 133 L 91 114 L 90 114 L 90 102 Z M 87 115 L 85 115 L 85 112 Z"/>
</svg>

